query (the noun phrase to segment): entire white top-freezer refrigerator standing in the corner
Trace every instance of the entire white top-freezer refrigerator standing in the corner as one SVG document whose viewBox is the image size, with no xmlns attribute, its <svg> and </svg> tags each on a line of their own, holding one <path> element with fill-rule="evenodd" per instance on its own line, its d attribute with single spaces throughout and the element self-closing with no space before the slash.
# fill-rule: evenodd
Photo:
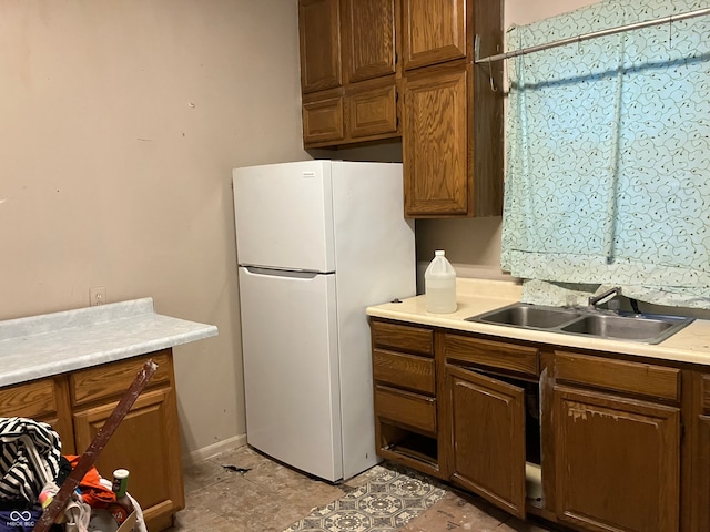
<svg viewBox="0 0 710 532">
<path fill-rule="evenodd" d="M 233 171 L 250 446 L 335 482 L 377 463 L 365 308 L 416 294 L 402 165 Z"/>
</svg>

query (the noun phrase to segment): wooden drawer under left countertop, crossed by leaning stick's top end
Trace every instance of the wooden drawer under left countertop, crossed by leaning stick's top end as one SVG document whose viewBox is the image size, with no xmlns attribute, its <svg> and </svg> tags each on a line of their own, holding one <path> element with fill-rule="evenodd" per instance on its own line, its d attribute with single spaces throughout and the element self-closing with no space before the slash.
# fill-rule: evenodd
<svg viewBox="0 0 710 532">
<path fill-rule="evenodd" d="M 70 376 L 72 405 L 80 406 L 98 399 L 122 396 L 135 380 L 145 361 L 150 359 L 158 365 L 158 369 L 149 386 L 169 382 L 172 378 L 172 364 L 169 354 L 170 350 L 163 350 L 72 374 Z"/>
</svg>

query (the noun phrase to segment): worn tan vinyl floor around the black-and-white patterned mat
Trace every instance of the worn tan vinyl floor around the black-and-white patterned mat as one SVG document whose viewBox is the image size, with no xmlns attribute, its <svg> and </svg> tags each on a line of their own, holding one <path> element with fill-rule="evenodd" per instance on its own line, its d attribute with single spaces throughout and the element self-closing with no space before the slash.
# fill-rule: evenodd
<svg viewBox="0 0 710 532">
<path fill-rule="evenodd" d="M 387 467 L 387 462 L 382 466 Z M 282 532 L 324 507 L 365 485 L 378 468 L 338 484 L 302 474 L 247 446 L 184 471 L 185 509 L 170 532 Z M 414 472 L 413 472 L 414 473 Z M 402 532 L 546 532 L 474 495 L 446 489 L 428 510 Z"/>
</svg>

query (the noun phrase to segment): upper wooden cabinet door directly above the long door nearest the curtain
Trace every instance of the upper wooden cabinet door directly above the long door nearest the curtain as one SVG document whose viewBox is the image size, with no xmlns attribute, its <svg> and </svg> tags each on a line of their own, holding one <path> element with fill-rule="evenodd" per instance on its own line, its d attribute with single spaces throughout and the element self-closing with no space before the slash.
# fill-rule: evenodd
<svg viewBox="0 0 710 532">
<path fill-rule="evenodd" d="M 405 70 L 466 57 L 466 0 L 403 2 Z"/>
</svg>

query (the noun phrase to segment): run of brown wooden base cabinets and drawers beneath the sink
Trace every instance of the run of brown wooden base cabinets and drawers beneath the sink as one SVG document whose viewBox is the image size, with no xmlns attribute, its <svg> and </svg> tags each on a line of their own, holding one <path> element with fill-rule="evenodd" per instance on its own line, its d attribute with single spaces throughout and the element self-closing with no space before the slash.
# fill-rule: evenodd
<svg viewBox="0 0 710 532">
<path fill-rule="evenodd" d="M 700 367 L 371 324 L 384 458 L 569 530 L 710 530 L 710 374 Z M 412 436 L 428 459 L 399 451 Z"/>
</svg>

